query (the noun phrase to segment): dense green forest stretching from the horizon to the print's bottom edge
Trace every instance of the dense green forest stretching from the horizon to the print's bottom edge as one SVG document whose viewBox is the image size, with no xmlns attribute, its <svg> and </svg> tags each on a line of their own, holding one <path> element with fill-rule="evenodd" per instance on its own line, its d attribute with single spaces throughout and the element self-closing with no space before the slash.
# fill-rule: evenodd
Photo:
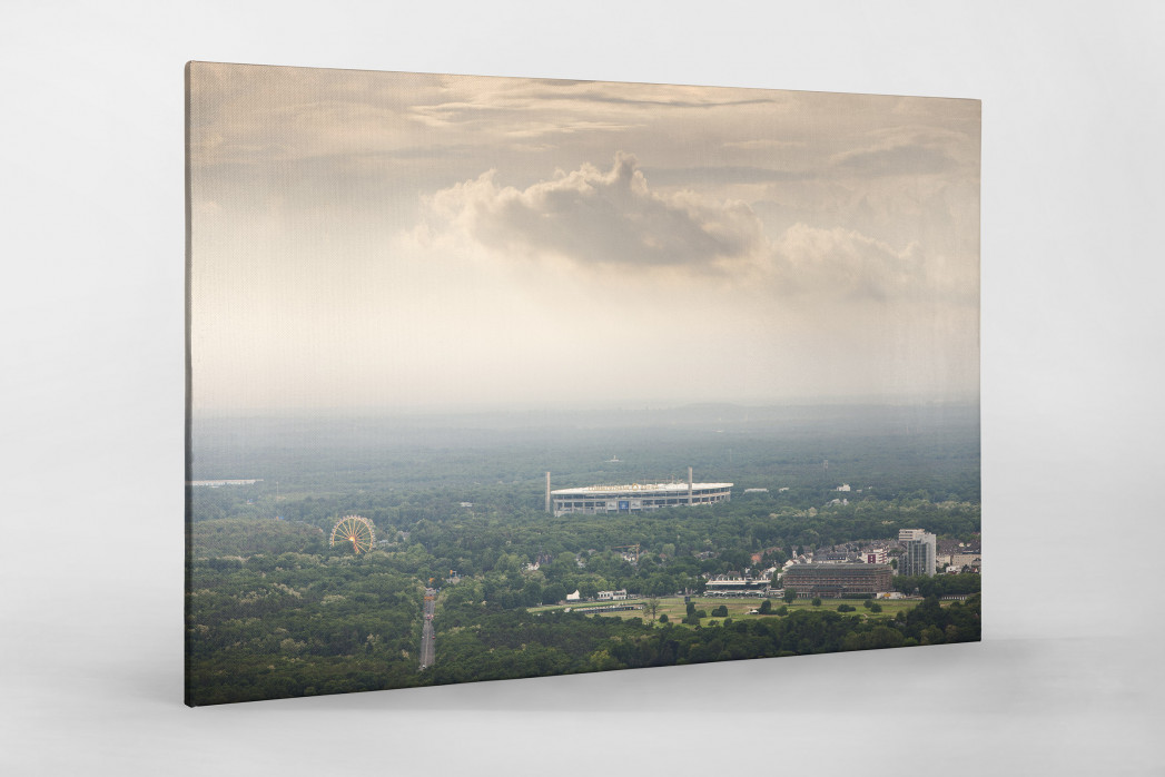
<svg viewBox="0 0 1165 777">
<path fill-rule="evenodd" d="M 894 617 L 822 608 L 692 627 L 528 612 L 573 591 L 698 594 L 709 574 L 891 539 L 901 528 L 979 537 L 976 414 L 715 407 L 684 418 L 617 429 L 593 416 L 572 426 L 497 417 L 471 426 L 210 425 L 193 438 L 192 479 L 257 482 L 188 487 L 188 702 L 979 638 L 977 575 L 898 579 L 905 593 L 930 598 Z M 555 487 L 565 487 L 677 478 L 689 462 L 698 480 L 734 482 L 733 500 L 634 514 L 543 510 L 551 466 Z M 842 483 L 850 490 L 839 492 Z M 352 514 L 375 529 L 368 553 L 330 546 L 332 527 Z M 626 546 L 638 546 L 637 558 Z M 421 671 L 428 585 L 439 588 L 437 654 Z M 940 607 L 934 598 L 949 593 L 972 598 Z"/>
</svg>

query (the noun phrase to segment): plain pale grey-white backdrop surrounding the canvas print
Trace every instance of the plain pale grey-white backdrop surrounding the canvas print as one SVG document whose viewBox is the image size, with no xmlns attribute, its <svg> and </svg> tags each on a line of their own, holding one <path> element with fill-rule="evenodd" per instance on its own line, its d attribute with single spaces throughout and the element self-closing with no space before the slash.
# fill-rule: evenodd
<svg viewBox="0 0 1165 777">
<path fill-rule="evenodd" d="M 935 767 L 959 744 L 1001 774 L 1097 774 L 1103 760 L 1148 774 L 1163 711 L 1149 662 L 1159 607 L 1104 593 L 1083 566 L 1039 571 L 1029 552 L 1163 539 L 1145 487 L 1159 480 L 1163 438 L 1160 8 L 6 5 L 0 768 L 692 774 L 748 753 L 788 770 L 819 763 L 825 747 L 853 761 L 870 739 L 889 757 L 905 732 Z M 981 98 L 988 641 L 182 708 L 188 59 Z M 1123 573 L 1129 588 L 1153 581 Z M 972 691 L 958 709 L 888 704 L 876 719 L 812 700 L 822 683 L 871 673 L 888 691 Z M 796 722 L 781 712 L 790 693 Z M 713 705 L 771 709 L 771 725 L 709 732 L 701 711 Z M 598 751 L 559 748 L 595 719 L 627 735 Z M 877 723 L 887 737 L 821 733 L 839 723 Z"/>
</svg>

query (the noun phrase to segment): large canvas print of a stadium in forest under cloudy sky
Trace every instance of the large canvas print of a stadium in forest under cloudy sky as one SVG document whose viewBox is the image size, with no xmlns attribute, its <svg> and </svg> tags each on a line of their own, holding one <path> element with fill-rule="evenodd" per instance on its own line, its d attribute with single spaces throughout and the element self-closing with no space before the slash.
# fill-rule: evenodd
<svg viewBox="0 0 1165 777">
<path fill-rule="evenodd" d="M 188 704 L 980 638 L 979 101 L 186 99 Z"/>
</svg>

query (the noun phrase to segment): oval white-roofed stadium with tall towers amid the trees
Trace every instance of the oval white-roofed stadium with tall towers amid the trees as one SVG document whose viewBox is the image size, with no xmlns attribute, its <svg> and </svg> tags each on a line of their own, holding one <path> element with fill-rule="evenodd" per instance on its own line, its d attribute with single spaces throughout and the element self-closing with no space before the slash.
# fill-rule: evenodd
<svg viewBox="0 0 1165 777">
<path fill-rule="evenodd" d="M 567 513 L 638 513 L 662 507 L 713 504 L 729 501 L 732 487 L 733 483 L 694 483 L 689 468 L 687 482 L 584 486 L 550 490 L 548 472 L 546 510 L 559 516 Z"/>
</svg>

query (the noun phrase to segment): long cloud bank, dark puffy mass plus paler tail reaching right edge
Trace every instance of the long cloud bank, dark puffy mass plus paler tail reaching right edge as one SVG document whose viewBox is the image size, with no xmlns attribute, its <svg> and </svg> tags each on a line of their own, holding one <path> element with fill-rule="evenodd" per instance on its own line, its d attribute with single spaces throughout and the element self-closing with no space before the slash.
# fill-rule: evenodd
<svg viewBox="0 0 1165 777">
<path fill-rule="evenodd" d="M 729 169 L 734 171 L 733 169 Z M 518 261 L 564 268 L 572 281 L 609 281 L 649 291 L 680 282 L 693 295 L 735 295 L 761 304 L 834 309 L 945 299 L 974 301 L 918 241 L 894 246 L 853 228 L 795 222 L 765 232 L 741 202 L 713 200 L 691 190 L 657 191 L 634 156 L 619 154 L 607 171 L 584 164 L 527 189 L 501 186 L 495 171 L 444 189 L 426 200 L 414 232 L 422 243 L 450 240 L 485 249 L 502 267 Z"/>
</svg>

